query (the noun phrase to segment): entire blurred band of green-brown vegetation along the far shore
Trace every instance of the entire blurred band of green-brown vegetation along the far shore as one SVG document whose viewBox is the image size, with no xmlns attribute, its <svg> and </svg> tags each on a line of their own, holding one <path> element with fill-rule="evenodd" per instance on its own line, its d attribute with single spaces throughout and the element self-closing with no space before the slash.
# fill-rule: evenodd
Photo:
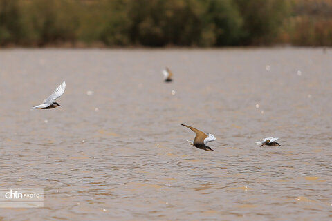
<svg viewBox="0 0 332 221">
<path fill-rule="evenodd" d="M 332 46 L 330 0 L 0 0 L 0 46 Z"/>
</svg>

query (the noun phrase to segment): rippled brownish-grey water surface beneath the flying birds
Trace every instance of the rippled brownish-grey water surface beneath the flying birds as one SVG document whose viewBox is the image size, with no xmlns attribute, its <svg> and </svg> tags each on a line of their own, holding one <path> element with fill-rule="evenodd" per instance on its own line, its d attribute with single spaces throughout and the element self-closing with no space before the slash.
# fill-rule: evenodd
<svg viewBox="0 0 332 221">
<path fill-rule="evenodd" d="M 0 220 L 332 219 L 332 50 L 0 50 L 0 77 L 0 188 L 45 193 Z"/>
</svg>

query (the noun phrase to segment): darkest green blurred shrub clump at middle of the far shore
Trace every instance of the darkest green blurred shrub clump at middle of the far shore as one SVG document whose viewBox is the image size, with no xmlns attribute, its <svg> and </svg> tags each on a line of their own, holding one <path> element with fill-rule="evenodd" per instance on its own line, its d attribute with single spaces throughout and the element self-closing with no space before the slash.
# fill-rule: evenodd
<svg viewBox="0 0 332 221">
<path fill-rule="evenodd" d="M 136 44 L 225 46 L 240 36 L 241 17 L 231 0 L 133 0 L 129 8 Z"/>
</svg>

